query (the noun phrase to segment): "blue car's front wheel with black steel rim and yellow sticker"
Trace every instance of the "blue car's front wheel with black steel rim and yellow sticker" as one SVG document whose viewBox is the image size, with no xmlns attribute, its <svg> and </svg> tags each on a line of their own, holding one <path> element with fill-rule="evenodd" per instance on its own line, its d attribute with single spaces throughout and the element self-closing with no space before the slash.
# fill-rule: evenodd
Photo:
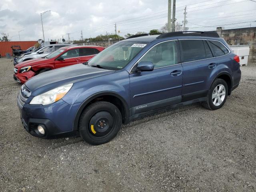
<svg viewBox="0 0 256 192">
<path fill-rule="evenodd" d="M 100 145 L 112 140 L 122 125 L 119 109 L 110 102 L 91 104 L 82 112 L 78 129 L 84 141 Z"/>
</svg>

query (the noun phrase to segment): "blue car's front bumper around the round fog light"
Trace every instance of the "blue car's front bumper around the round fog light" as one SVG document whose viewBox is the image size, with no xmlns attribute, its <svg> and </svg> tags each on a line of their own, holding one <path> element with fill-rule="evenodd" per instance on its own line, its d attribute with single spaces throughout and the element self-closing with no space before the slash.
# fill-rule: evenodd
<svg viewBox="0 0 256 192">
<path fill-rule="evenodd" d="M 28 103 L 31 101 L 28 98 Z M 74 136 L 77 131 L 73 129 L 74 117 L 79 105 L 70 105 L 63 100 L 42 106 L 24 104 L 18 105 L 21 122 L 28 133 L 39 138 L 60 138 Z M 37 131 L 37 126 L 44 128 L 45 134 Z"/>
</svg>

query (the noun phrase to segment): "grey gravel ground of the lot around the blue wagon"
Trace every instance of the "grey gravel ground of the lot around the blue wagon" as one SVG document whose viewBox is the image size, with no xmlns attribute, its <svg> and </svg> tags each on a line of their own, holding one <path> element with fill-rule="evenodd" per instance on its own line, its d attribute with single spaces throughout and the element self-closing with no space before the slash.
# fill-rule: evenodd
<svg viewBox="0 0 256 192">
<path fill-rule="evenodd" d="M 24 130 L 0 59 L 0 191 L 256 191 L 256 65 L 220 110 L 194 104 L 122 126 L 101 146 Z"/>
</svg>

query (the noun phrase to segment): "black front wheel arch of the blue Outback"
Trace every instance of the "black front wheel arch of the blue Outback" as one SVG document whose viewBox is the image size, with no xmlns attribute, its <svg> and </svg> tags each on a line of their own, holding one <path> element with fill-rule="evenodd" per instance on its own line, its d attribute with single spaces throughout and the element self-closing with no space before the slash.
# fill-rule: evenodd
<svg viewBox="0 0 256 192">
<path fill-rule="evenodd" d="M 79 121 L 79 118 L 80 118 L 83 110 L 91 103 L 94 103 L 97 101 L 107 101 L 107 102 L 110 102 L 110 103 L 116 105 L 122 114 L 122 122 L 124 122 L 125 119 L 130 114 L 128 104 L 124 100 L 124 98 L 122 98 L 122 96 L 120 96 L 116 92 L 110 92 L 110 91 L 98 92 L 98 93 L 93 94 L 89 98 L 87 98 L 78 108 L 78 110 L 76 112 L 75 119 L 74 119 L 74 123 L 73 123 L 73 130 L 78 130 L 78 121 Z M 120 102 L 121 105 L 118 104 L 118 102 Z"/>
</svg>

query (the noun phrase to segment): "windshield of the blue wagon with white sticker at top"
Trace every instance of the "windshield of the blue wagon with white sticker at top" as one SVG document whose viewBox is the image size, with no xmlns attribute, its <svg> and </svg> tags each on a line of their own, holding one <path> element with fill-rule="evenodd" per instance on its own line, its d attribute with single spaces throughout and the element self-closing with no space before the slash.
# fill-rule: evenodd
<svg viewBox="0 0 256 192">
<path fill-rule="evenodd" d="M 88 61 L 89 66 L 110 70 L 124 68 L 145 46 L 146 42 L 118 42 Z"/>
</svg>

